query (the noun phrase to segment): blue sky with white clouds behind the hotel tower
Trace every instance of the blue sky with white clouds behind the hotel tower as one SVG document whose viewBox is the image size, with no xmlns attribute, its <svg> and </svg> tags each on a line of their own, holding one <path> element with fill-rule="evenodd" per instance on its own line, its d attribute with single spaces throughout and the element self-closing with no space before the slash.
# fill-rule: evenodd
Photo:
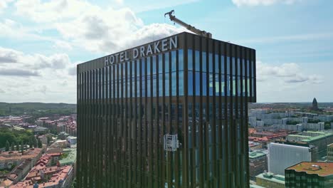
<svg viewBox="0 0 333 188">
<path fill-rule="evenodd" d="M 333 1 L 0 0 L 0 101 L 76 103 L 75 66 L 184 31 L 256 49 L 258 102 L 333 102 Z"/>
</svg>

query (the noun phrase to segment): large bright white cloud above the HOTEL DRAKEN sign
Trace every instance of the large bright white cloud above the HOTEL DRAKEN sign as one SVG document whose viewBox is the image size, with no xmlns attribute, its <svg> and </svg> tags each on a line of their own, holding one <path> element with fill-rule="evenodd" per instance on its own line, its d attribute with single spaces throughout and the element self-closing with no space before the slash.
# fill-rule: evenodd
<svg viewBox="0 0 333 188">
<path fill-rule="evenodd" d="M 81 0 L 19 0 L 16 9 L 18 15 L 43 23 L 48 29 L 55 28 L 63 39 L 59 41 L 36 34 L 34 38 L 53 40 L 54 48 L 66 51 L 83 48 L 94 53 L 113 53 L 185 30 L 165 23 L 145 26 L 131 9 L 100 7 Z M 13 36 L 9 31 L 15 29 L 8 24 L 3 24 L 4 30 Z M 24 33 L 22 30 L 20 33 Z M 14 36 L 17 35 L 19 33 Z"/>
</svg>

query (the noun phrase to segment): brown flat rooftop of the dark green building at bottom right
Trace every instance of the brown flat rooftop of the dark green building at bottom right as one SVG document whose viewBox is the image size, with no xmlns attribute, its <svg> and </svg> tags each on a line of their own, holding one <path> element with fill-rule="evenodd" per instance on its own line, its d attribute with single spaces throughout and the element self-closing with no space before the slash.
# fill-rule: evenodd
<svg viewBox="0 0 333 188">
<path fill-rule="evenodd" d="M 307 174 L 317 174 L 321 177 L 333 175 L 333 162 L 300 162 L 287 169 L 296 172 L 306 172 Z"/>
</svg>

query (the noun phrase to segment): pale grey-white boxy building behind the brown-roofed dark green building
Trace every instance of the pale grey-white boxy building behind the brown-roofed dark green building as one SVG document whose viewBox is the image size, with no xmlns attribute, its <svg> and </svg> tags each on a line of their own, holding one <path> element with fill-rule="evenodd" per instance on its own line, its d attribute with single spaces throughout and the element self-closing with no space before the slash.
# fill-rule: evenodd
<svg viewBox="0 0 333 188">
<path fill-rule="evenodd" d="M 302 161 L 312 160 L 310 147 L 270 143 L 268 145 L 268 172 L 285 174 L 285 168 Z"/>
</svg>

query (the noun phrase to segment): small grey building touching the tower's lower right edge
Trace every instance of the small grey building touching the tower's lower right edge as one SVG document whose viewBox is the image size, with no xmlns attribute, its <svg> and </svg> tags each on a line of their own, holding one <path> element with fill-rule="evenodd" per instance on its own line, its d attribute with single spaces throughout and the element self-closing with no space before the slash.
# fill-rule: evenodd
<svg viewBox="0 0 333 188">
<path fill-rule="evenodd" d="M 262 151 L 253 151 L 249 153 L 250 178 L 255 178 L 268 170 L 267 155 Z"/>
</svg>

